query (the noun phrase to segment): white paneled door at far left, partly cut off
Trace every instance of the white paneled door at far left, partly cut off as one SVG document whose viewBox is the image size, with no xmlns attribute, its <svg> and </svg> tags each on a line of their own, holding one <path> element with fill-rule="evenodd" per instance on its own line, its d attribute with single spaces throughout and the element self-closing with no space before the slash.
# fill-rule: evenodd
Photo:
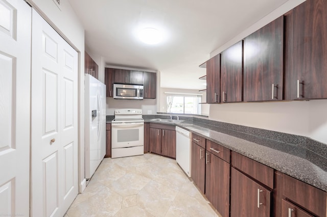
<svg viewBox="0 0 327 217">
<path fill-rule="evenodd" d="M 31 7 L 0 0 L 0 215 L 29 215 Z"/>
</svg>

